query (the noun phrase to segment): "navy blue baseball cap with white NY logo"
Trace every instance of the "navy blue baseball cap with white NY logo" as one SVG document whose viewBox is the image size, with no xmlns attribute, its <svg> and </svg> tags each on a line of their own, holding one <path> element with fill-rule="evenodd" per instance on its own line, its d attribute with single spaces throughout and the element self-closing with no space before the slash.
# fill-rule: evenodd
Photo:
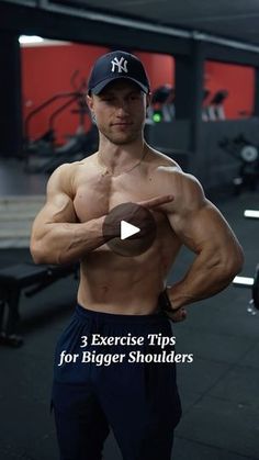
<svg viewBox="0 0 259 460">
<path fill-rule="evenodd" d="M 146 70 L 138 57 L 116 51 L 97 59 L 88 80 L 88 94 L 99 94 L 106 85 L 116 79 L 134 81 L 144 92 L 150 92 Z"/>
</svg>

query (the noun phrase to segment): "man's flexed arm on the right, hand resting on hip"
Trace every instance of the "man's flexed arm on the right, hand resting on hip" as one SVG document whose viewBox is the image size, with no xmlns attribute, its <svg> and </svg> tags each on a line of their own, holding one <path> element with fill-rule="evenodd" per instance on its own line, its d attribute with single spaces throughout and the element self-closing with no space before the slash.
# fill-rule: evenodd
<svg viewBox="0 0 259 460">
<path fill-rule="evenodd" d="M 178 238 L 196 256 L 183 279 L 168 289 L 173 310 L 222 291 L 244 263 L 234 232 L 206 200 L 200 182 L 190 175 L 178 176 L 176 199 L 167 205 L 167 215 Z"/>
</svg>

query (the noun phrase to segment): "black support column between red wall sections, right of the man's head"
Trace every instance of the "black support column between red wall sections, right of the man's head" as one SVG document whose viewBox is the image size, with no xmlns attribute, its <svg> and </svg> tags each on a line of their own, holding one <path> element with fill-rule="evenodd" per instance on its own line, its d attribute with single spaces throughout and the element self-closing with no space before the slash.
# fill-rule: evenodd
<svg viewBox="0 0 259 460">
<path fill-rule="evenodd" d="M 202 130 L 204 51 L 193 41 L 188 56 L 176 58 L 176 120 L 189 124 L 189 150 L 199 150 Z"/>
</svg>

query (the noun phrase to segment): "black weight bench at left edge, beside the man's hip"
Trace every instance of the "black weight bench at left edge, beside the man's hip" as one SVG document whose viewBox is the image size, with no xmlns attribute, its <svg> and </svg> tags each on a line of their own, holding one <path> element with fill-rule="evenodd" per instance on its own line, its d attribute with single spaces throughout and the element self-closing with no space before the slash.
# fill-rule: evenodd
<svg viewBox="0 0 259 460">
<path fill-rule="evenodd" d="M 78 265 L 47 266 L 33 262 L 18 263 L 0 270 L 0 345 L 19 347 L 23 344 L 16 335 L 20 322 L 19 301 L 23 289 L 27 298 L 53 284 L 55 281 L 74 274 L 78 278 Z M 7 315 L 5 307 L 8 307 Z M 4 322 L 4 316 L 7 321 Z M 5 323 L 5 324 L 3 324 Z"/>
</svg>

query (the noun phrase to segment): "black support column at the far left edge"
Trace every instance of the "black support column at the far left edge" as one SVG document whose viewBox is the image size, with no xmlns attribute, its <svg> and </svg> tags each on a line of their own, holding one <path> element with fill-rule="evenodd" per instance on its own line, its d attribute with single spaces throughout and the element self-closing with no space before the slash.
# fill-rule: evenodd
<svg viewBox="0 0 259 460">
<path fill-rule="evenodd" d="M 22 147 L 21 65 L 19 35 L 0 31 L 0 156 Z"/>
</svg>

